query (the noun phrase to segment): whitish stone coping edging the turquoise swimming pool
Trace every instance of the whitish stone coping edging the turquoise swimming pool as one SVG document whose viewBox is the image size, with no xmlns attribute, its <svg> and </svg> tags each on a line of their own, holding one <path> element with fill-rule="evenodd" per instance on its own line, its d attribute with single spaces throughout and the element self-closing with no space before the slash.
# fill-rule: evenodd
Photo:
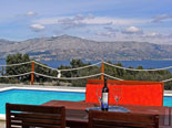
<svg viewBox="0 0 172 128">
<path fill-rule="evenodd" d="M 85 93 L 85 87 L 64 87 L 64 86 L 10 86 L 0 88 L 0 92 L 9 89 L 32 89 L 32 90 L 57 90 L 57 92 L 74 92 L 74 93 Z M 163 96 L 172 96 L 171 90 L 164 90 Z M 6 120 L 6 115 L 0 114 L 0 120 Z"/>
</svg>

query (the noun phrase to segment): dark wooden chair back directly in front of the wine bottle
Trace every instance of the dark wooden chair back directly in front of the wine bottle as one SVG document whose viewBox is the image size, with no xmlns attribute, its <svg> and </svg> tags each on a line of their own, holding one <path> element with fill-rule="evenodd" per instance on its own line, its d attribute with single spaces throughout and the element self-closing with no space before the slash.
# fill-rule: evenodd
<svg viewBox="0 0 172 128">
<path fill-rule="evenodd" d="M 159 128 L 159 116 L 89 110 L 89 128 Z"/>
</svg>

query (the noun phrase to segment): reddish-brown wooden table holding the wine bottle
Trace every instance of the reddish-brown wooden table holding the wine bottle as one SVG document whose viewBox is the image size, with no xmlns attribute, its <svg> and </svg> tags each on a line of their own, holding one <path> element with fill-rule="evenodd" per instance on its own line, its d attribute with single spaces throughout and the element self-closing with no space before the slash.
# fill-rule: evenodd
<svg viewBox="0 0 172 128">
<path fill-rule="evenodd" d="M 95 107 L 98 104 L 84 103 L 84 102 L 63 102 L 51 100 L 45 106 L 65 106 L 67 109 L 67 126 L 70 128 L 87 128 L 88 126 L 88 113 L 85 108 Z M 131 110 L 131 113 L 138 114 L 155 114 L 160 115 L 160 128 L 172 128 L 172 108 L 170 107 L 153 107 L 153 106 L 131 106 L 123 105 L 123 107 Z"/>
</svg>

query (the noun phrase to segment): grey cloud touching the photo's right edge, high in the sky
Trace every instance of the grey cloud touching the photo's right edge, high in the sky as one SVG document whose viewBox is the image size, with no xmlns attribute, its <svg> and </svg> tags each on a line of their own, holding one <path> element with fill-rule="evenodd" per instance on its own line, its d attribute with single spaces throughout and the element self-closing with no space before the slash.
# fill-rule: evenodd
<svg viewBox="0 0 172 128">
<path fill-rule="evenodd" d="M 152 22 L 163 22 L 165 20 L 172 19 L 172 14 L 160 14 L 152 18 Z"/>
</svg>

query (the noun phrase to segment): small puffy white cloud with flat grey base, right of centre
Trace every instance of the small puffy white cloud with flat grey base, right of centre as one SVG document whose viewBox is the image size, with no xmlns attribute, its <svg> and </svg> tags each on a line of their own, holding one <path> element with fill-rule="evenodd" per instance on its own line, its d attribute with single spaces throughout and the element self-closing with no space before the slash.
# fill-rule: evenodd
<svg viewBox="0 0 172 128">
<path fill-rule="evenodd" d="M 125 34 L 142 34 L 143 33 L 143 30 L 136 28 L 136 26 L 129 26 L 127 29 L 124 29 L 122 31 L 122 33 L 125 33 Z"/>
</svg>

